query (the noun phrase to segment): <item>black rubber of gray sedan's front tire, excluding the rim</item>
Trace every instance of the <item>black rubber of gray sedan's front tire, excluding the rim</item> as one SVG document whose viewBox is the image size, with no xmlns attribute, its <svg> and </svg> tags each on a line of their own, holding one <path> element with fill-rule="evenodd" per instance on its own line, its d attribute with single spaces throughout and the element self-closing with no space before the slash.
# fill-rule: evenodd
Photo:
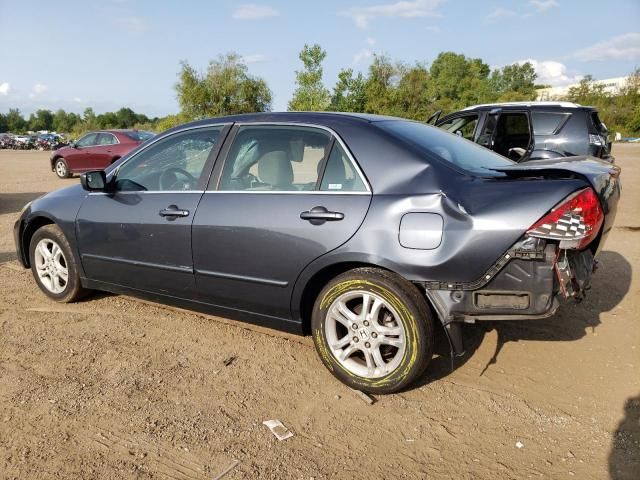
<svg viewBox="0 0 640 480">
<path fill-rule="evenodd" d="M 64 255 L 64 259 L 67 264 L 68 278 L 67 285 L 65 289 L 60 293 L 53 293 L 47 289 L 38 277 L 38 271 L 36 269 L 36 261 L 35 261 L 35 248 L 38 243 L 43 239 L 49 239 L 54 241 L 60 249 L 62 249 L 62 254 Z M 71 247 L 69 246 L 69 242 L 65 238 L 62 231 L 56 225 L 45 225 L 40 229 L 36 230 L 36 232 L 31 237 L 31 242 L 29 243 L 29 262 L 31 264 L 31 272 L 33 273 L 33 278 L 36 281 L 36 284 L 44 292 L 47 297 L 57 301 L 57 302 L 69 302 L 72 299 L 76 298 L 78 292 L 81 290 L 80 285 L 80 277 L 78 275 L 78 268 L 76 265 L 75 257 L 71 252 Z"/>
</svg>

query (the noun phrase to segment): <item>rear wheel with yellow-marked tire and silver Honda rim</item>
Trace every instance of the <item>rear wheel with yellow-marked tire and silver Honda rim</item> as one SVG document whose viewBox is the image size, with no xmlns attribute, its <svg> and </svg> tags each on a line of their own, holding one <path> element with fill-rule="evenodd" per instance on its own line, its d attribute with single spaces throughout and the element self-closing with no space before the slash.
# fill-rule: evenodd
<svg viewBox="0 0 640 480">
<path fill-rule="evenodd" d="M 402 277 L 377 268 L 331 280 L 316 299 L 311 329 L 322 363 L 363 392 L 403 389 L 424 373 L 433 355 L 435 328 L 425 298 Z"/>
</svg>

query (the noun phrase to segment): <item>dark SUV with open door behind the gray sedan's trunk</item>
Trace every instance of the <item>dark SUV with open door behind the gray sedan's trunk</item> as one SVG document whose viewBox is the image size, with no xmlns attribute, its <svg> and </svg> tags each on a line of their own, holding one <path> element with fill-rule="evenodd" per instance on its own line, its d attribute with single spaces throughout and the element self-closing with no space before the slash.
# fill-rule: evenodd
<svg viewBox="0 0 640 480">
<path fill-rule="evenodd" d="M 613 162 L 598 111 L 576 103 L 475 105 L 437 119 L 436 126 L 516 162 L 577 155 Z"/>
</svg>

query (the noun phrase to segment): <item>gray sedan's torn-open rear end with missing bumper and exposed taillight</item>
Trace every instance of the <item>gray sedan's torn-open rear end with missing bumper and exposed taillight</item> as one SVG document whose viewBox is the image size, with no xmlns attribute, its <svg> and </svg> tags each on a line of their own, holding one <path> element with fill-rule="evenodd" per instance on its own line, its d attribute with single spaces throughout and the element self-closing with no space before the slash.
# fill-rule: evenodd
<svg viewBox="0 0 640 480">
<path fill-rule="evenodd" d="M 615 217 L 618 167 L 576 159 L 501 171 L 507 174 L 505 181 L 581 178 L 585 186 L 545 212 L 482 277 L 471 282 L 421 282 L 457 355 L 464 352 L 462 323 L 547 318 L 561 300 L 581 301 Z"/>
</svg>

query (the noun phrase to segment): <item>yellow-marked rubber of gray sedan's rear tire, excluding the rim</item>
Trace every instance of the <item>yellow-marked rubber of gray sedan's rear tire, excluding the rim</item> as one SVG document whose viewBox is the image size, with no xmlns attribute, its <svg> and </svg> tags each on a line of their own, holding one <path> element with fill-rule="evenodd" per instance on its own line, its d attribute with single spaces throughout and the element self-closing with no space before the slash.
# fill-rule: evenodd
<svg viewBox="0 0 640 480">
<path fill-rule="evenodd" d="M 395 309 L 399 317 L 397 321 L 404 328 L 406 348 L 403 358 L 393 372 L 383 377 L 368 379 L 350 372 L 334 357 L 327 343 L 324 329 L 328 309 L 341 294 L 352 290 L 366 290 L 382 297 Z M 428 336 L 433 332 L 427 327 L 430 317 L 419 318 L 421 313 L 415 305 L 415 299 L 391 278 L 374 275 L 363 278 L 357 274 L 345 274 L 327 284 L 318 295 L 312 314 L 313 340 L 322 363 L 340 381 L 362 391 L 391 393 L 415 380 L 431 357 L 432 342 Z"/>
</svg>

